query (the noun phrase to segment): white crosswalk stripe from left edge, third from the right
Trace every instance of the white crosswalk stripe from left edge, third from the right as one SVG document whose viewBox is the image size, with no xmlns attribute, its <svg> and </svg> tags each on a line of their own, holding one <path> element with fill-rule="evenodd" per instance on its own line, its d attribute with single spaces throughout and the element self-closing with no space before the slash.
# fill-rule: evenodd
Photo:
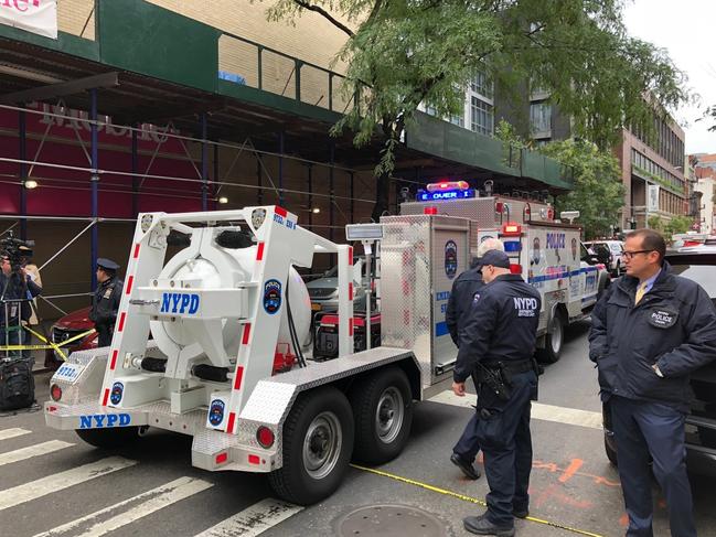
<svg viewBox="0 0 716 537">
<path fill-rule="evenodd" d="M 23 485 L 13 486 L 0 492 L 0 511 L 14 507 L 24 502 L 36 500 L 47 494 L 68 488 L 79 483 L 101 477 L 103 475 L 124 470 L 137 464 L 137 461 L 130 461 L 121 457 L 108 457 L 92 464 L 73 468 L 65 472 L 60 472 L 46 477 L 42 477 Z"/>
</svg>

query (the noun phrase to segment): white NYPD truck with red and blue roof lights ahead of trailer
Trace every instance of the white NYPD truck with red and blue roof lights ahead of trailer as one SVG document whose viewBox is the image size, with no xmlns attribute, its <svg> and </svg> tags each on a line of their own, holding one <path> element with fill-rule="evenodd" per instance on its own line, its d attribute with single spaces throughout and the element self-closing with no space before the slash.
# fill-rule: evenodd
<svg viewBox="0 0 716 537">
<path fill-rule="evenodd" d="M 589 264 L 590 256 L 580 243 L 579 226 L 556 221 L 554 208 L 539 200 L 481 196 L 464 181 L 444 181 L 428 184 L 418 192 L 416 201 L 403 203 L 400 214 L 467 218 L 470 257 L 477 256 L 478 245 L 488 237 L 504 241 L 512 272 L 522 275 L 542 297 L 537 355 L 546 363 L 559 359 L 565 327 L 586 319 L 610 283 L 603 265 Z M 578 215 L 567 215 L 570 216 Z M 448 264 L 451 250 L 452 245 L 446 244 L 450 281 L 453 278 L 453 264 Z M 436 291 L 436 297 L 447 304 L 449 291 L 446 286 Z"/>
</svg>

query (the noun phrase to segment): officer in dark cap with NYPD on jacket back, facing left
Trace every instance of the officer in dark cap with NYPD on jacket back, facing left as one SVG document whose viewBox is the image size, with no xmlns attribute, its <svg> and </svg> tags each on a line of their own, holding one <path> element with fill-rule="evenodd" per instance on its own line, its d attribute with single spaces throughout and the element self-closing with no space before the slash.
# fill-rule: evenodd
<svg viewBox="0 0 716 537">
<path fill-rule="evenodd" d="M 532 286 L 510 273 L 503 251 L 488 251 L 480 264 L 485 286 L 475 293 L 459 333 L 452 390 L 464 396 L 466 379 L 477 373 L 477 437 L 490 492 L 488 511 L 463 523 L 477 535 L 512 537 L 514 517 L 528 515 L 530 410 L 537 396 L 533 354 L 542 303 Z"/>
</svg>

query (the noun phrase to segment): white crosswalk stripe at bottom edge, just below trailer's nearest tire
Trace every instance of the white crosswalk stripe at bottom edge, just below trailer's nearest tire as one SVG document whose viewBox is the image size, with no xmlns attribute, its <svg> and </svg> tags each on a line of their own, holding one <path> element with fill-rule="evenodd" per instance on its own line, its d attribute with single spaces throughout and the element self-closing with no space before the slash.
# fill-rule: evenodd
<svg viewBox="0 0 716 537">
<path fill-rule="evenodd" d="M 279 500 L 261 500 L 195 537 L 255 537 L 290 518 L 302 508 Z"/>
</svg>

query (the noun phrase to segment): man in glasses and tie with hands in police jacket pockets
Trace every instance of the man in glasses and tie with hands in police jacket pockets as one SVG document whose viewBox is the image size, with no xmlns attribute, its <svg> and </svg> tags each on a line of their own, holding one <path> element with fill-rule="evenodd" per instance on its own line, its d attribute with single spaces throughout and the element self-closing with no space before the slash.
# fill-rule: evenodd
<svg viewBox="0 0 716 537">
<path fill-rule="evenodd" d="M 686 474 L 688 375 L 716 357 L 716 310 L 697 283 L 672 273 L 664 239 L 651 229 L 627 237 L 626 276 L 591 314 L 589 357 L 609 402 L 628 537 L 652 537 L 651 474 L 669 508 L 671 535 L 696 537 Z"/>
</svg>

